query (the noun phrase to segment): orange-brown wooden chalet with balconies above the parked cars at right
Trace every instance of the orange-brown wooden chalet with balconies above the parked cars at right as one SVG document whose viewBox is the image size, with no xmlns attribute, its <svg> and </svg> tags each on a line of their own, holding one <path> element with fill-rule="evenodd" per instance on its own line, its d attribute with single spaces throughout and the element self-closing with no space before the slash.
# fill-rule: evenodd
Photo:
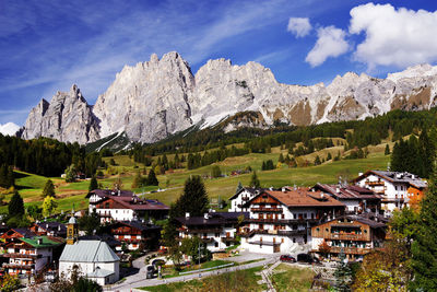
<svg viewBox="0 0 437 292">
<path fill-rule="evenodd" d="M 343 215 L 314 226 L 311 252 L 335 259 L 343 253 L 351 260 L 382 246 L 387 225 L 363 215 Z"/>
</svg>

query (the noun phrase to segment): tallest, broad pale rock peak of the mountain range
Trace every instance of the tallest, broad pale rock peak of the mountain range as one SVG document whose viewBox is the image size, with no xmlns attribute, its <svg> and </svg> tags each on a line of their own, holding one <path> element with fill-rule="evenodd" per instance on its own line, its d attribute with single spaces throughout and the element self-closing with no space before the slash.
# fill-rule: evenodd
<svg viewBox="0 0 437 292">
<path fill-rule="evenodd" d="M 126 131 L 135 141 L 151 142 L 185 130 L 191 126 L 188 100 L 194 83 L 177 52 L 126 66 L 94 106 L 102 137 Z"/>
</svg>

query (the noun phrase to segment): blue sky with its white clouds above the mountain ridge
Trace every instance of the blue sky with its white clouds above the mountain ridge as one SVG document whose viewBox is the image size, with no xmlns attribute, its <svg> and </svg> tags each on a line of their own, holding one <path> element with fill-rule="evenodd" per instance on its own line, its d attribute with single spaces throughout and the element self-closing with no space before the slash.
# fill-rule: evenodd
<svg viewBox="0 0 437 292">
<path fill-rule="evenodd" d="M 437 1 L 0 0 L 0 125 L 78 84 L 90 104 L 133 66 L 176 50 L 258 61 L 282 83 L 329 84 L 347 71 L 385 78 L 437 63 Z"/>
</svg>

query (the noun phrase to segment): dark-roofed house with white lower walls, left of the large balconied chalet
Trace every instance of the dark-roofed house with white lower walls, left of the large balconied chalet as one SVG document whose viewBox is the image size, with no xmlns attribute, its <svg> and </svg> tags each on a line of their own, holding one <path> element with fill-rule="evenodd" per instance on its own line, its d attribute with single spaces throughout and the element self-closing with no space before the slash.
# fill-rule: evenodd
<svg viewBox="0 0 437 292">
<path fill-rule="evenodd" d="M 177 218 L 179 240 L 198 236 L 214 253 L 237 243 L 238 226 L 248 218 L 245 212 L 209 212 L 203 217 Z"/>
</svg>

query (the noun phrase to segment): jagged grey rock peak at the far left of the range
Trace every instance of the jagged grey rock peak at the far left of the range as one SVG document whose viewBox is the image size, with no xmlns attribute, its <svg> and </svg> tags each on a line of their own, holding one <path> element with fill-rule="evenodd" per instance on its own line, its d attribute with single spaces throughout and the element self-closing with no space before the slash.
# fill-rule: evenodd
<svg viewBox="0 0 437 292">
<path fill-rule="evenodd" d="M 27 117 L 23 139 L 49 137 L 84 144 L 99 139 L 98 120 L 74 84 L 70 92 L 57 92 L 50 103 L 42 100 Z"/>
</svg>

